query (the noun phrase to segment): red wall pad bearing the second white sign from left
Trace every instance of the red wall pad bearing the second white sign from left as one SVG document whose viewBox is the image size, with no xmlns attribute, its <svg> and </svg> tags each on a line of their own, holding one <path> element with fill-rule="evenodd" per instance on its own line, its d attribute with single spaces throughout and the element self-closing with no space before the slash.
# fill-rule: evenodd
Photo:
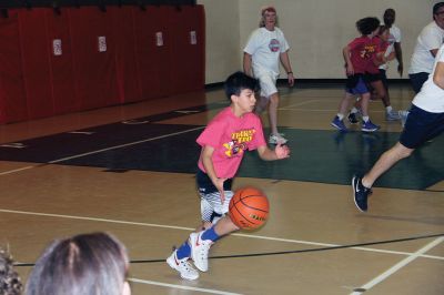
<svg viewBox="0 0 444 295">
<path fill-rule="evenodd" d="M 101 12 L 97 7 L 70 8 L 69 23 L 75 93 L 80 109 L 119 103 L 111 13 Z M 99 37 L 105 37 L 104 52 L 99 52 Z"/>
</svg>

